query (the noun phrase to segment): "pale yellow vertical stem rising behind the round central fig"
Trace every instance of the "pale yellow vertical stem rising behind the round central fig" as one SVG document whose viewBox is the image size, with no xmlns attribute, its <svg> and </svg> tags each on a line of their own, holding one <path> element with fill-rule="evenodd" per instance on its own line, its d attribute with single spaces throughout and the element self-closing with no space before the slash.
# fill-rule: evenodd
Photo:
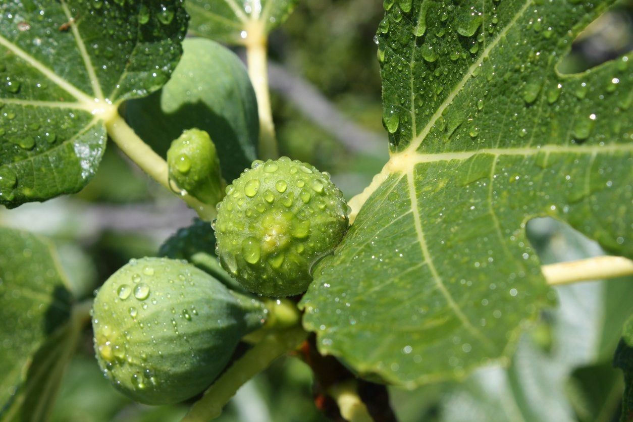
<svg viewBox="0 0 633 422">
<path fill-rule="evenodd" d="M 277 138 L 275 137 L 275 123 L 273 122 L 270 106 L 270 91 L 268 89 L 268 60 L 266 47 L 266 23 L 261 20 L 250 20 L 246 23 L 246 62 L 248 76 L 257 97 L 257 111 L 260 116 L 260 145 L 261 159 L 279 158 Z"/>
</svg>

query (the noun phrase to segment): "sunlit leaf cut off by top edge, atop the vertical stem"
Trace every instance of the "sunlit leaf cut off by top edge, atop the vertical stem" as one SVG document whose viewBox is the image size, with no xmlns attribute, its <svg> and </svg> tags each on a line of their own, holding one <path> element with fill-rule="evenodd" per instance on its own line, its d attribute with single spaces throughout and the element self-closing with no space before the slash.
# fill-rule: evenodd
<svg viewBox="0 0 633 422">
<path fill-rule="evenodd" d="M 189 30 L 227 44 L 244 44 L 250 31 L 268 33 L 290 15 L 298 0 L 187 0 Z M 259 36 L 259 35 L 258 35 Z"/>
</svg>

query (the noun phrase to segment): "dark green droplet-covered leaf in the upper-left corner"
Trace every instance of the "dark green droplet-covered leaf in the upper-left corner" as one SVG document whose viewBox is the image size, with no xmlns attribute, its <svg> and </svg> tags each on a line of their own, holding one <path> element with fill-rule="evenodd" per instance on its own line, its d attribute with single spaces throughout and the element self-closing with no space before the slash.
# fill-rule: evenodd
<svg viewBox="0 0 633 422">
<path fill-rule="evenodd" d="M 82 189 L 104 120 L 166 82 L 186 20 L 179 0 L 0 3 L 0 204 Z"/>
</svg>

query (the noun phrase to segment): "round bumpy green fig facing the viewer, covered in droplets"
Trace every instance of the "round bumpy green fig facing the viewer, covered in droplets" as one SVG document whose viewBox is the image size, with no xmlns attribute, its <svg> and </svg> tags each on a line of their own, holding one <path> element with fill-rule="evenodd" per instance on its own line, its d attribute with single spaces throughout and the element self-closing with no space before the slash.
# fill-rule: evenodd
<svg viewBox="0 0 633 422">
<path fill-rule="evenodd" d="M 327 173 L 282 157 L 254 161 L 226 190 L 215 221 L 220 263 L 246 289 L 304 292 L 316 260 L 348 229 L 348 206 Z"/>
</svg>

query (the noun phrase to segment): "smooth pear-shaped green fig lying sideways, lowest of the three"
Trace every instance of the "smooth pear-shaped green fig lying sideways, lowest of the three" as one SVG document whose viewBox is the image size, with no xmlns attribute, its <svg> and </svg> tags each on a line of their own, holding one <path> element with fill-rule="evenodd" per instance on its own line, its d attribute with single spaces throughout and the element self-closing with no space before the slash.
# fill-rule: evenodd
<svg viewBox="0 0 633 422">
<path fill-rule="evenodd" d="M 191 264 L 133 259 L 97 293 L 94 348 L 104 375 L 128 397 L 179 402 L 208 387 L 265 316 L 260 301 Z"/>
</svg>

